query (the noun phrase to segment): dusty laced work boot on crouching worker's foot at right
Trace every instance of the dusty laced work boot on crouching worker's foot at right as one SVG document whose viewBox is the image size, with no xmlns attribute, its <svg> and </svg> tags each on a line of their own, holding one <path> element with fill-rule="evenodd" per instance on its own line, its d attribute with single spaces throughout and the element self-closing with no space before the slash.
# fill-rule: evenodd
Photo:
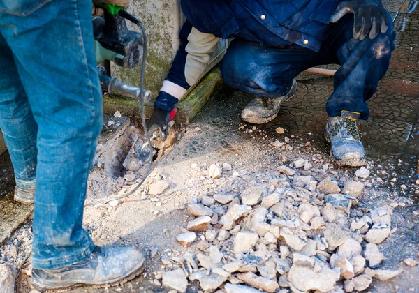
<svg viewBox="0 0 419 293">
<path fill-rule="evenodd" d="M 341 116 L 328 119 L 325 137 L 331 144 L 330 156 L 341 166 L 358 167 L 366 163 L 361 133 L 356 125 L 359 117 L 359 113 L 342 111 Z"/>
</svg>

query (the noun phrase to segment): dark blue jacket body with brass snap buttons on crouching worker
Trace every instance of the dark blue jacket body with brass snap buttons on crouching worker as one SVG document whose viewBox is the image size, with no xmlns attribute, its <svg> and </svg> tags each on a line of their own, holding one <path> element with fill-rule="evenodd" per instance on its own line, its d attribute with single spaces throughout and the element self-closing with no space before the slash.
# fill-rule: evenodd
<svg viewBox="0 0 419 293">
<path fill-rule="evenodd" d="M 341 0 L 182 0 L 193 27 L 220 38 L 318 51 Z"/>
</svg>

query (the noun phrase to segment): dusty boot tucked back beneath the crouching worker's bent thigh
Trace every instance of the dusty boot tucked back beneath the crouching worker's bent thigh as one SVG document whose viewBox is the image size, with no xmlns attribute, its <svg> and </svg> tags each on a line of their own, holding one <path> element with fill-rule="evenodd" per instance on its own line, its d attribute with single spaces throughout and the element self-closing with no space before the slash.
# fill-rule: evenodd
<svg viewBox="0 0 419 293">
<path fill-rule="evenodd" d="M 297 91 L 297 81 L 293 80 L 293 86 L 285 96 L 278 98 L 255 98 L 242 111 L 242 120 L 252 124 L 265 124 L 277 117 L 281 104 L 291 100 Z"/>
</svg>

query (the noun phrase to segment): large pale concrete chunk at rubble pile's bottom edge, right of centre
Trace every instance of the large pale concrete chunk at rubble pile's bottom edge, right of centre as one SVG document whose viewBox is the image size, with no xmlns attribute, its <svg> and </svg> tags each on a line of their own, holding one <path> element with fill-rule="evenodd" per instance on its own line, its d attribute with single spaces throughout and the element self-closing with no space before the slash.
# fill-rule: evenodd
<svg viewBox="0 0 419 293">
<path fill-rule="evenodd" d="M 329 292 L 333 290 L 339 272 L 323 266 L 318 273 L 307 266 L 292 266 L 288 272 L 288 282 L 293 292 L 308 292 L 309 290 L 319 290 L 320 292 Z"/>
</svg>

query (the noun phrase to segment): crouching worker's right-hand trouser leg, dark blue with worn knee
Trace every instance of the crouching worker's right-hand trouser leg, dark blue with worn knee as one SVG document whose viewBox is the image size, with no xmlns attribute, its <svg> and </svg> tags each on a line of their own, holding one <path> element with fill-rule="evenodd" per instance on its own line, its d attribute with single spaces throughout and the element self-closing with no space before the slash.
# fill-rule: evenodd
<svg viewBox="0 0 419 293">
<path fill-rule="evenodd" d="M 374 40 L 355 40 L 353 15 L 346 15 L 330 26 L 328 38 L 323 45 L 329 52 L 337 54 L 341 68 L 334 78 L 334 91 L 326 103 L 330 117 L 340 116 L 341 111 L 359 112 L 360 119 L 367 120 L 371 98 L 378 82 L 387 73 L 392 51 L 395 50 L 395 31 L 390 15 L 390 27 L 386 33 L 379 33 Z"/>
</svg>

